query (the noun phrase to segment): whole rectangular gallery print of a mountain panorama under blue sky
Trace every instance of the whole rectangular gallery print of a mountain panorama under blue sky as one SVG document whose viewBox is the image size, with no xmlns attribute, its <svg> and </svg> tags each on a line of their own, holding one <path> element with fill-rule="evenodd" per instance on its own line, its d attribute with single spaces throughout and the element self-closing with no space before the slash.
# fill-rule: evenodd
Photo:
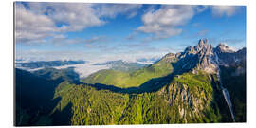
<svg viewBox="0 0 256 128">
<path fill-rule="evenodd" d="M 246 7 L 14 3 L 14 125 L 246 122 Z"/>
</svg>

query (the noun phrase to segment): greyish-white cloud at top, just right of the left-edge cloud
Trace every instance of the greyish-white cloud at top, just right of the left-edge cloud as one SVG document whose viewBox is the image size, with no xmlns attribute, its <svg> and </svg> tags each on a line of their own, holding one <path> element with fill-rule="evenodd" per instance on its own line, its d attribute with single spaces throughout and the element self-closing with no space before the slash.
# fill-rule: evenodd
<svg viewBox="0 0 256 128">
<path fill-rule="evenodd" d="M 90 4 L 65 3 L 48 5 L 54 9 L 48 16 L 56 23 L 64 23 L 63 31 L 78 31 L 86 27 L 101 26 L 104 21 L 95 14 Z"/>
</svg>

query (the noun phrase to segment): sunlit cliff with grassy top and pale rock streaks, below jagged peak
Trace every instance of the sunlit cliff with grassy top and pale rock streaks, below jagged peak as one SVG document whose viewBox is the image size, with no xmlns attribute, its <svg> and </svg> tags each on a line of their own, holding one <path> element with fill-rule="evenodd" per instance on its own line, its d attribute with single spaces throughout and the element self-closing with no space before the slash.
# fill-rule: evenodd
<svg viewBox="0 0 256 128">
<path fill-rule="evenodd" d="M 218 102 L 213 100 L 213 92 L 219 91 L 213 89 L 217 83 L 212 85 L 212 82 L 215 80 L 206 73 L 185 73 L 174 77 L 173 82 L 160 89 L 157 94 L 173 107 L 181 122 L 217 122 L 221 115 Z M 217 107 L 213 107 L 214 105 Z"/>
</svg>

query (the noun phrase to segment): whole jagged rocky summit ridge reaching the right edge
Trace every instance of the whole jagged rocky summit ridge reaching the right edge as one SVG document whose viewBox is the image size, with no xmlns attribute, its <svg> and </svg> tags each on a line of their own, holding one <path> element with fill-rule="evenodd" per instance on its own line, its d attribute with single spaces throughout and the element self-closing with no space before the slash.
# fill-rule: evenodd
<svg viewBox="0 0 256 128">
<path fill-rule="evenodd" d="M 196 46 L 188 46 L 183 52 L 169 53 L 162 58 L 167 62 L 175 62 L 175 72 L 182 74 L 191 71 L 197 73 L 198 70 L 205 71 L 210 74 L 218 72 L 219 65 L 230 65 L 244 60 L 245 49 L 235 51 L 226 44 L 219 44 L 213 47 L 208 44 L 207 39 L 200 39 Z M 239 56 L 243 54 L 242 56 Z M 229 57 L 228 59 L 226 57 Z"/>
</svg>

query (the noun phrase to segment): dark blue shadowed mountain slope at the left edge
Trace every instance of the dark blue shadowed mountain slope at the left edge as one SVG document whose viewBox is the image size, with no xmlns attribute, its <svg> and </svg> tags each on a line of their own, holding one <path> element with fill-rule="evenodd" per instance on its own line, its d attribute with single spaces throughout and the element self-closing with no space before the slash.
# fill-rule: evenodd
<svg viewBox="0 0 256 128">
<path fill-rule="evenodd" d="M 61 98 L 53 99 L 53 97 L 56 87 L 66 79 L 66 77 L 59 75 L 62 73 L 61 71 L 61 73 L 57 73 L 58 77 L 50 79 L 49 74 L 51 73 L 48 72 L 40 76 L 39 73 L 34 74 L 25 70 L 15 69 L 14 122 L 16 126 L 61 125 L 62 123 L 58 121 L 59 119 L 68 119 L 68 115 L 71 112 L 70 105 L 72 104 L 69 104 L 69 107 L 66 107 L 64 111 L 56 111 L 54 115 L 51 115 L 52 110 L 61 101 Z M 78 76 L 78 74 L 75 76 Z M 69 82 L 79 83 L 76 79 Z M 56 118 L 58 116 L 59 118 Z"/>
</svg>

